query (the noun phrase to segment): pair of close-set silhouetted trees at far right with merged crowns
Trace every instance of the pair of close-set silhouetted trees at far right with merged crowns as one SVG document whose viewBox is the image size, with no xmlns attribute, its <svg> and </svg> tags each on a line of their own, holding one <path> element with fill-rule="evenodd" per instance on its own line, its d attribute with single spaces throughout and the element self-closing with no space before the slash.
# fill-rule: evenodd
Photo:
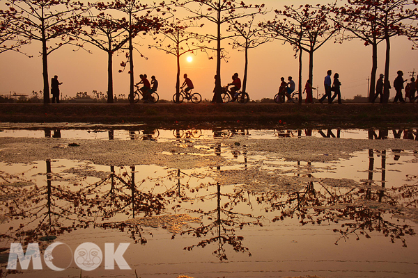
<svg viewBox="0 0 418 278">
<path fill-rule="evenodd" d="M 348 4 L 339 6 L 334 3 L 331 7 L 335 16 L 331 17 L 343 30 L 342 40 L 357 38 L 364 41 L 364 45 L 372 46 L 371 82 L 369 88 L 369 101 L 374 97 L 376 86 L 376 71 L 378 68 L 378 44 L 386 42 L 385 61 L 385 102 L 389 97 L 389 38 L 396 35 L 406 35 L 413 40 L 417 32 L 407 19 L 418 19 L 417 1 L 414 0 L 352 0 Z"/>
</svg>

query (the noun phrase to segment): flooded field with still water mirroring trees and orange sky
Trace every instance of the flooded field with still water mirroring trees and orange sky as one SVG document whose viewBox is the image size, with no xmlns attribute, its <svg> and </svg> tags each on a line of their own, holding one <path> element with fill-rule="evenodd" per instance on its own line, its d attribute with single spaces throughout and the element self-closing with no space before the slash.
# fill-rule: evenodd
<svg viewBox="0 0 418 278">
<path fill-rule="evenodd" d="M 2 274 L 417 277 L 417 131 L 2 124 Z"/>
</svg>

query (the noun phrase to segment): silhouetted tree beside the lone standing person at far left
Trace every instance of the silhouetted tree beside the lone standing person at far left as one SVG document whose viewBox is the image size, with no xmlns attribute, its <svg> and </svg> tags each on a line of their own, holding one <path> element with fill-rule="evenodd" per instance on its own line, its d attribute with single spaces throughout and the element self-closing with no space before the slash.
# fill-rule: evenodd
<svg viewBox="0 0 418 278">
<path fill-rule="evenodd" d="M 31 1 L 5 0 L 10 10 L 17 15 L 12 26 L 13 33 L 26 42 L 37 40 L 42 44 L 42 75 L 44 104 L 49 103 L 49 78 L 47 57 L 52 51 L 75 40 L 80 26 L 77 20 L 88 10 L 81 2 L 70 0 Z"/>
</svg>

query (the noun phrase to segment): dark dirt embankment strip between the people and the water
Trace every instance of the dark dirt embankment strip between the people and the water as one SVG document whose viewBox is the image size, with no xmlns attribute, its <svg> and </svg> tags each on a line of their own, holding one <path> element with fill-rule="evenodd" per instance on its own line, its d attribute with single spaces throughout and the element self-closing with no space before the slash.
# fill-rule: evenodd
<svg viewBox="0 0 418 278">
<path fill-rule="evenodd" d="M 0 104 L 1 122 L 416 124 L 417 104 Z"/>
</svg>

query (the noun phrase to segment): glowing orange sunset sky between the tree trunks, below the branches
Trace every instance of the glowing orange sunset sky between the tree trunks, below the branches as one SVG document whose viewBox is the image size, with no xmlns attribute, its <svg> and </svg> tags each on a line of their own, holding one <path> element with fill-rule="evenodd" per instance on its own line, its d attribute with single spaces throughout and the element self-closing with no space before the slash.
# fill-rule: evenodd
<svg viewBox="0 0 418 278">
<path fill-rule="evenodd" d="M 147 3 L 147 1 L 141 1 Z M 284 5 L 295 6 L 307 3 L 307 1 L 245 1 L 245 3 L 265 3 L 268 10 L 282 9 Z M 327 3 L 327 1 L 309 1 L 309 3 Z M 256 17 L 261 21 L 272 17 L 272 14 Z M 206 28 L 215 26 L 210 22 L 203 21 Z M 136 40 L 139 42 L 138 40 Z M 176 85 L 176 57 L 165 54 L 164 51 L 148 49 L 149 39 L 141 40 L 139 50 L 148 60 L 141 58 L 138 52 L 134 53 L 135 82 L 139 81 L 139 74 L 147 74 L 150 79 L 155 75 L 159 81 L 157 92 L 160 99 L 171 99 L 175 93 Z M 222 85 L 231 82 L 231 76 L 238 72 L 242 78 L 244 74 L 244 53 L 231 49 L 224 40 L 222 47 L 229 51 L 229 59 L 222 62 Z M 49 80 L 56 74 L 63 96 L 75 97 L 77 92 L 88 92 L 92 95 L 93 90 L 107 91 L 107 54 L 93 46 L 88 47 L 93 54 L 84 50 L 73 51 L 73 47 L 65 46 L 49 55 L 48 68 Z M 9 95 L 16 92 L 22 95 L 31 95 L 33 90 L 42 90 L 42 60 L 38 56 L 40 43 L 33 42 L 22 49 L 33 55 L 27 58 L 13 51 L 0 54 L 0 95 Z M 280 77 L 293 76 L 297 83 L 298 60 L 293 57 L 293 49 L 289 44 L 280 41 L 268 42 L 256 49 L 249 50 L 249 72 L 247 92 L 250 99 L 272 98 L 279 88 Z M 181 76 L 187 73 L 194 83 L 194 92 L 200 92 L 203 99 L 212 98 L 214 88 L 213 76 L 216 72 L 216 59 L 208 60 L 206 54 L 191 54 L 192 61 L 187 61 L 188 55 L 181 58 Z M 411 50 L 411 44 L 406 38 L 392 38 L 391 40 L 391 63 L 389 80 L 393 83 L 396 71 L 403 70 L 404 78 L 410 79 L 410 72 L 418 71 L 418 51 Z M 308 78 L 309 55 L 304 53 L 302 84 Z M 129 93 L 128 70 L 118 73 L 122 68 L 119 64 L 125 60 L 124 54 L 114 55 L 114 95 L 127 95 Z M 378 74 L 383 73 L 385 68 L 385 42 L 378 45 Z M 341 95 L 343 98 L 353 98 L 355 95 L 366 97 L 368 90 L 368 78 L 371 72 L 371 47 L 365 47 L 359 40 L 334 44 L 330 40 L 314 54 L 314 87 L 319 88 L 322 95 L 323 79 L 327 70 L 339 73 L 341 81 Z M 417 74 L 415 74 L 417 76 Z M 183 81 L 183 78 L 181 79 Z M 394 89 L 391 90 L 391 97 Z M 316 91 L 314 91 L 316 97 Z"/>
</svg>

